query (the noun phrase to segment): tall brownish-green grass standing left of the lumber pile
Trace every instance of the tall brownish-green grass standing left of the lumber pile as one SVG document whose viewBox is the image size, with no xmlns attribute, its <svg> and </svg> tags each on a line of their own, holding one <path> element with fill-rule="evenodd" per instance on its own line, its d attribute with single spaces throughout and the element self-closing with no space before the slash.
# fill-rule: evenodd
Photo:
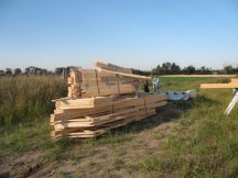
<svg viewBox="0 0 238 178">
<path fill-rule="evenodd" d="M 52 99 L 66 96 L 66 84 L 55 76 L 0 78 L 0 125 L 48 115 Z"/>
</svg>

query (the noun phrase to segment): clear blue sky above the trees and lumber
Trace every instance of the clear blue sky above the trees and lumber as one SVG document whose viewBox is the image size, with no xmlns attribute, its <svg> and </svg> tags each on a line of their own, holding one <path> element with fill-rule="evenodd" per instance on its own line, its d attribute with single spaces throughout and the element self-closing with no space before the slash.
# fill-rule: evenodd
<svg viewBox="0 0 238 178">
<path fill-rule="evenodd" d="M 238 65 L 238 0 L 0 0 L 0 69 Z"/>
</svg>

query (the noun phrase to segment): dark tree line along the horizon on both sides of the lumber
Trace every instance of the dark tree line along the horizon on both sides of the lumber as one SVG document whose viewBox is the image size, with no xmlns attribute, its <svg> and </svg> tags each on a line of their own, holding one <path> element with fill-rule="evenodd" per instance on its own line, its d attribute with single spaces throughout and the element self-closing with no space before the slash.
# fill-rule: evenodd
<svg viewBox="0 0 238 178">
<path fill-rule="evenodd" d="M 47 70 L 44 68 L 30 66 L 26 67 L 24 70 L 21 68 L 6 68 L 0 69 L 0 76 L 17 76 L 17 75 L 63 75 L 66 76 L 69 74 L 71 69 L 76 69 L 78 67 L 75 66 L 67 66 L 67 67 L 57 67 L 54 70 Z M 132 69 L 133 74 L 137 75 L 238 75 L 238 67 L 234 67 L 231 65 L 224 66 L 223 69 L 212 69 L 206 66 L 202 66 L 201 68 L 196 68 L 193 65 L 188 65 L 187 67 L 181 68 L 175 63 L 163 63 L 162 65 L 158 65 L 156 67 L 152 68 L 152 70 L 138 70 Z"/>
</svg>

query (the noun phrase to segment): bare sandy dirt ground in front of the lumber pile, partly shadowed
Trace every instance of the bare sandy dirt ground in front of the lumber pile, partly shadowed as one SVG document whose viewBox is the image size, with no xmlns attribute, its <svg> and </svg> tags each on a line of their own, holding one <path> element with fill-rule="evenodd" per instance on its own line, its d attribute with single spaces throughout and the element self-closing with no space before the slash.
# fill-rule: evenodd
<svg viewBox="0 0 238 178">
<path fill-rule="evenodd" d="M 155 116 L 112 131 L 111 137 L 75 142 L 56 160 L 44 158 L 43 151 L 0 157 L 0 177 L 144 177 L 137 165 L 152 155 L 166 156 L 163 142 L 178 116 L 180 110 L 170 104 Z"/>
</svg>

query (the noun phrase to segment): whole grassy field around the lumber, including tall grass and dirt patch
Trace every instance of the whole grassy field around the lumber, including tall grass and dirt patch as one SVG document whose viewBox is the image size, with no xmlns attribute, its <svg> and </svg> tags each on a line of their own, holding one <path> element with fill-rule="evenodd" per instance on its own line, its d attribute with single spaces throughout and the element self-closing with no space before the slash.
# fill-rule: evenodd
<svg viewBox="0 0 238 178">
<path fill-rule="evenodd" d="M 0 169 L 17 177 L 45 162 L 32 177 L 237 177 L 238 108 L 224 115 L 231 90 L 198 88 L 228 79 L 160 81 L 161 90 L 196 89 L 198 97 L 170 102 L 156 115 L 98 138 L 53 142 L 51 100 L 65 94 L 65 84 L 55 77 L 0 78 Z"/>
</svg>

